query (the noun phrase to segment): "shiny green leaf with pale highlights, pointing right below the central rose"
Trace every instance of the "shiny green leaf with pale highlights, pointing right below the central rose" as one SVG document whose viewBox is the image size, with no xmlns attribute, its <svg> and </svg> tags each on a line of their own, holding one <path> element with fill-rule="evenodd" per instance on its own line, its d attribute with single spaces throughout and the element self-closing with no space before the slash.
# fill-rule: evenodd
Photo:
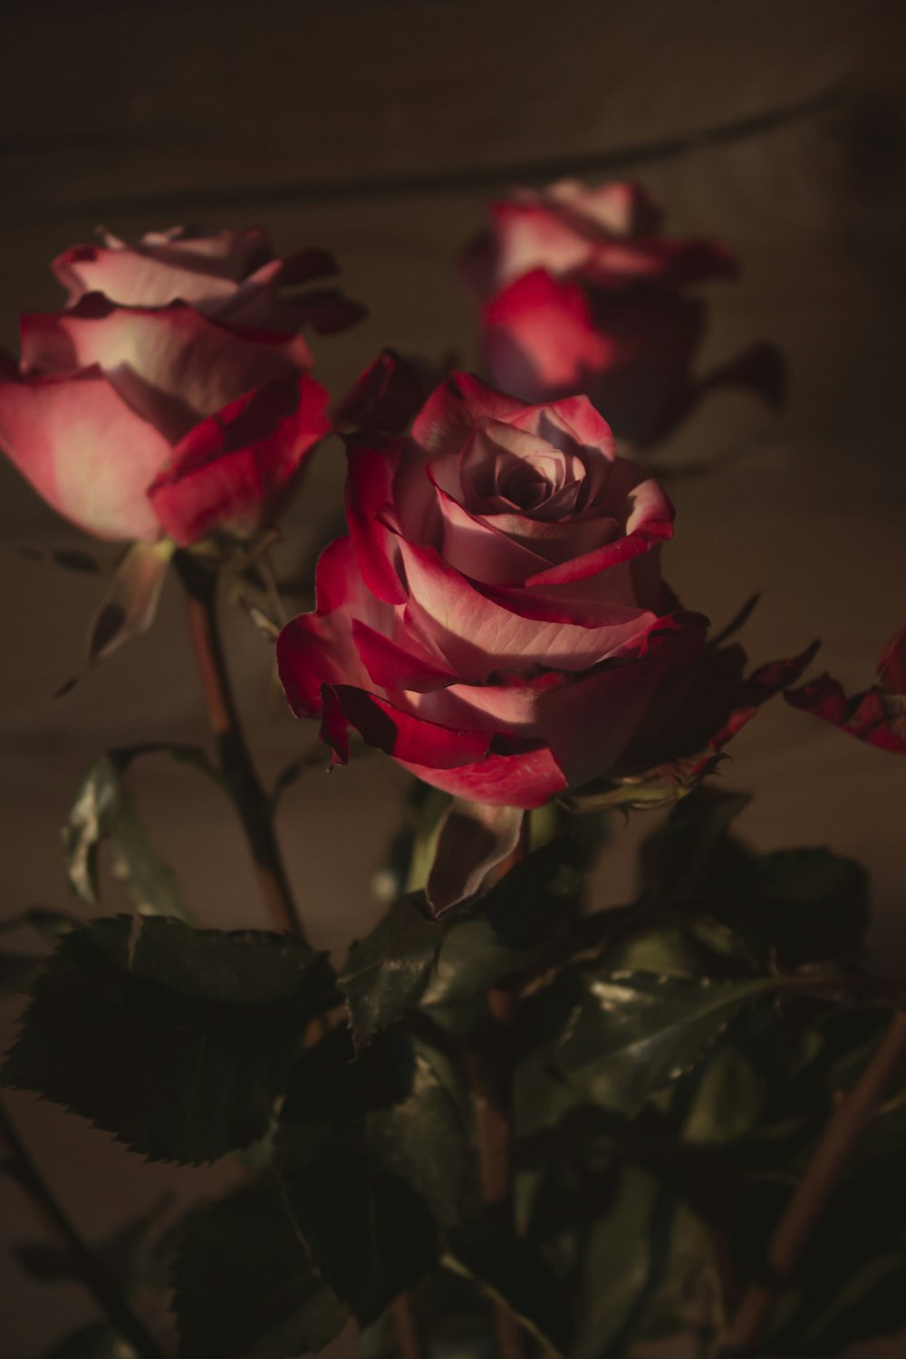
<svg viewBox="0 0 906 1359">
<path fill-rule="evenodd" d="M 557 1037 L 538 1055 L 607 1109 L 634 1114 L 679 1080 L 727 1025 L 777 985 L 776 978 L 694 981 L 649 973 L 561 977 L 535 1006 Z M 561 1023 L 543 1015 L 554 1007 Z M 538 1022 L 528 1017 L 528 1023 Z"/>
</svg>

